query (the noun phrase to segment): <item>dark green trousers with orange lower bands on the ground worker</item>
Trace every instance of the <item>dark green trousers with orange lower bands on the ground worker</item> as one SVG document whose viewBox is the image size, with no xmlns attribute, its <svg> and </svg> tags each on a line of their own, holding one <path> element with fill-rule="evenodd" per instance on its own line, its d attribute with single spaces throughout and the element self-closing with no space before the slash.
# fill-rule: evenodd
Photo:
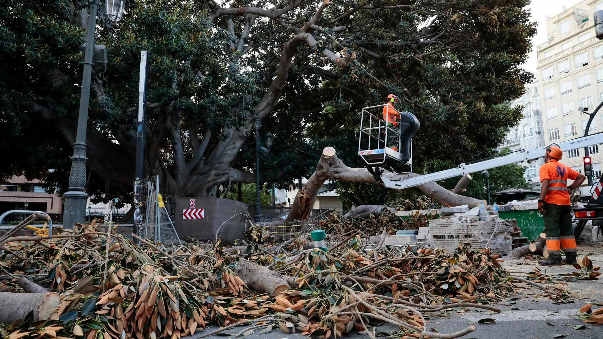
<svg viewBox="0 0 603 339">
<path fill-rule="evenodd" d="M 568 258 L 576 256 L 576 239 L 572 229 L 572 206 L 545 203 L 546 251 L 552 258 L 561 258 L 561 247 Z"/>
</svg>

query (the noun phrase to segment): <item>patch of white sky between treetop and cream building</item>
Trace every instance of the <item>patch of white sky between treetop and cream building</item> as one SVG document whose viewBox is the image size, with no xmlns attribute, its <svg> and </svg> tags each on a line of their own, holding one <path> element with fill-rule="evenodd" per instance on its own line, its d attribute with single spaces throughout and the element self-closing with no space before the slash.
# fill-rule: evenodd
<svg viewBox="0 0 603 339">
<path fill-rule="evenodd" d="M 579 2 L 574 0 L 532 0 L 528 8 L 532 11 L 531 21 L 538 22 L 538 33 L 536 33 L 534 40 L 532 40 L 534 46 L 532 46 L 528 61 L 523 64 L 523 68 L 536 74 L 536 46 L 546 41 L 546 16 L 554 16 L 561 13 L 563 5 L 570 8 Z"/>
</svg>

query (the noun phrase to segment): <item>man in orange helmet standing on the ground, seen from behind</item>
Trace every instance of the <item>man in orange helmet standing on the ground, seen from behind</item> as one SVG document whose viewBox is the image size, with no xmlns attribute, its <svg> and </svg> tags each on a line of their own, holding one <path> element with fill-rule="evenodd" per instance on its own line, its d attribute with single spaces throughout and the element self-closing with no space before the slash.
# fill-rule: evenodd
<svg viewBox="0 0 603 339">
<path fill-rule="evenodd" d="M 576 239 L 572 229 L 572 203 L 569 192 L 580 186 L 586 177 L 560 163 L 563 151 L 551 146 L 546 149 L 545 164 L 540 166 L 540 199 L 538 212 L 545 222 L 546 250 L 549 258 L 538 261 L 540 265 L 561 266 L 561 247 L 566 254 L 565 264 L 576 262 Z M 567 186 L 567 179 L 572 185 Z"/>
</svg>

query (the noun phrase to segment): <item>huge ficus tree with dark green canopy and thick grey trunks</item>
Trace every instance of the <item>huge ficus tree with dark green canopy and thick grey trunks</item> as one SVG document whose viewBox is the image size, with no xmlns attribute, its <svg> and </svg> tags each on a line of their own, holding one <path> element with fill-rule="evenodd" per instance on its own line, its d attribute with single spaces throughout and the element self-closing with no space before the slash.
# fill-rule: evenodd
<svg viewBox="0 0 603 339">
<path fill-rule="evenodd" d="M 489 156 L 520 117 L 497 107 L 532 78 L 519 68 L 535 34 L 527 4 L 131 0 L 121 22 L 97 30 L 109 64 L 92 80 L 87 192 L 110 197 L 133 182 L 141 50 L 151 55 L 145 165 L 167 193 L 254 182 L 254 116 L 276 136 L 264 180 L 311 173 L 325 145 L 356 161 L 359 110 L 388 93 L 421 122 L 417 171 Z M 67 188 L 85 8 L 0 0 L 0 176 Z"/>
</svg>

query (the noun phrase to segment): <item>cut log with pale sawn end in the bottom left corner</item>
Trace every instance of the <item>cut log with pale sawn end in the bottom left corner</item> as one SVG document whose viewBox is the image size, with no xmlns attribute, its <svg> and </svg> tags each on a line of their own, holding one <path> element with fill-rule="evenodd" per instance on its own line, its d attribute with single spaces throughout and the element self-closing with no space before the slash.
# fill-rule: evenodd
<svg viewBox="0 0 603 339">
<path fill-rule="evenodd" d="M 27 317 L 33 311 L 33 321 L 46 320 L 61 303 L 57 293 L 0 292 L 0 322 L 10 324 Z"/>
</svg>

